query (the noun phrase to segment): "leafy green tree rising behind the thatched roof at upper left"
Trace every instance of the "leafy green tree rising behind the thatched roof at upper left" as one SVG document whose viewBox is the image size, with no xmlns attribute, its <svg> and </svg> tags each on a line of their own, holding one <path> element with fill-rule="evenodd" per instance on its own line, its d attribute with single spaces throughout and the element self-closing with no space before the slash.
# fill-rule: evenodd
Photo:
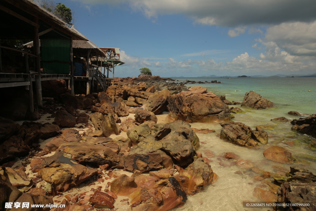
<svg viewBox="0 0 316 211">
<path fill-rule="evenodd" d="M 66 7 L 66 5 L 62 3 L 55 3 L 54 0 L 37 0 L 37 2 L 42 8 L 51 12 L 69 25 L 72 25 L 74 22 L 76 22 L 74 12 L 71 11 L 69 7 Z"/>
</svg>

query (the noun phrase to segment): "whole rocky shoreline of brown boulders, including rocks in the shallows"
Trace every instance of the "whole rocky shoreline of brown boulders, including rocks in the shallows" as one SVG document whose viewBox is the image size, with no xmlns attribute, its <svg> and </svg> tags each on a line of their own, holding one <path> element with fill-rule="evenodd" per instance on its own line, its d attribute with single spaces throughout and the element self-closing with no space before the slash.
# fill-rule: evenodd
<svg viewBox="0 0 316 211">
<path fill-rule="evenodd" d="M 37 122 L 19 124 L 1 117 L 1 204 L 65 205 L 52 209 L 56 211 L 167 211 L 183 206 L 189 195 L 219 178 L 210 165 L 215 155 L 198 151 L 196 134 L 215 130 L 191 128 L 189 123 L 221 122 L 223 141 L 257 148 L 267 145 L 270 134 L 265 128 L 231 121 L 244 111 L 228 105 L 275 106 L 252 91 L 243 102 L 230 102 L 201 86 L 185 86 L 189 83 L 194 84 L 159 76 L 115 78 L 106 92 L 46 99 Z M 162 115 L 165 111 L 168 115 Z M 280 118 L 273 121 L 287 122 Z M 291 123 L 292 130 L 315 137 L 315 115 Z M 316 147 L 315 141 L 311 145 Z M 283 147 L 269 146 L 263 154 L 267 160 L 293 165 L 269 172 L 233 152 L 217 159 L 223 167 L 240 168 L 235 174 L 254 173 L 253 180 L 262 183 L 253 192 L 258 200 L 314 202 L 308 209 L 316 210 L 316 176 L 296 165 Z"/>
</svg>

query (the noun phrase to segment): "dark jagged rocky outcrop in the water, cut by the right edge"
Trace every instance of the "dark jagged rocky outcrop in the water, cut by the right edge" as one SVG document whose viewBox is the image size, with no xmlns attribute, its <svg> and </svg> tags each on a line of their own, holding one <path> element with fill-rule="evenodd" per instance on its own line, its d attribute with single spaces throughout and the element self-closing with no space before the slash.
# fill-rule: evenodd
<svg viewBox="0 0 316 211">
<path fill-rule="evenodd" d="M 293 125 L 291 130 L 296 130 L 316 138 L 316 114 L 309 115 L 306 118 L 292 120 L 291 124 Z"/>
</svg>

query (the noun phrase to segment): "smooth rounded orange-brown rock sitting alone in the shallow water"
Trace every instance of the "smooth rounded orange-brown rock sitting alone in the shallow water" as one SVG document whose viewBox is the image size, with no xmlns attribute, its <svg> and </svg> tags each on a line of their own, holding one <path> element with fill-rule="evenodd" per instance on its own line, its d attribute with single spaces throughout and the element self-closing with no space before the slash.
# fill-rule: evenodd
<svg viewBox="0 0 316 211">
<path fill-rule="evenodd" d="M 291 152 L 284 149 L 281 146 L 271 146 L 266 149 L 264 152 L 264 157 L 268 160 L 272 160 L 279 163 L 293 163 L 294 159 L 292 158 Z"/>
</svg>

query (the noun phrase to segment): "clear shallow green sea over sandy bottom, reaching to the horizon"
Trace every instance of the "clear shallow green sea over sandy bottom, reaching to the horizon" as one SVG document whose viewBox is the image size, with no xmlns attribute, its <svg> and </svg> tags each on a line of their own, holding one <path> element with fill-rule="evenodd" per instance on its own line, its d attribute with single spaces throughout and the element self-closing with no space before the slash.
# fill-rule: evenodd
<svg viewBox="0 0 316 211">
<path fill-rule="evenodd" d="M 306 117 L 316 114 L 316 78 L 173 78 L 177 82 L 190 81 L 220 81 L 220 84 L 186 84 L 188 87 L 202 86 L 216 95 L 225 95 L 230 101 L 242 102 L 245 93 L 250 90 L 275 103 L 271 109 L 256 110 L 229 105 L 244 110 L 244 114 L 234 114 L 231 121 L 242 122 L 252 129 L 261 126 L 269 134 L 267 145 L 258 148 L 236 146 L 219 138 L 221 126 L 217 122 L 191 123 L 191 127 L 201 129 L 209 128 L 215 133 L 197 133 L 200 140 L 200 149 L 203 156 L 209 157 L 213 171 L 219 176 L 218 180 L 196 195 L 188 197 L 183 207 L 175 210 L 185 211 L 245 211 L 245 210 L 272 210 L 271 208 L 244 208 L 242 202 L 262 202 L 254 196 L 254 189 L 259 187 L 264 190 L 269 188 L 261 181 L 254 181 L 258 175 L 250 170 L 240 169 L 233 161 L 222 157 L 224 152 L 234 152 L 240 158 L 251 162 L 256 168 L 271 173 L 276 173 L 273 166 L 290 170 L 291 165 L 300 165 L 316 174 L 316 151 L 308 147 L 313 138 L 306 134 L 292 131 L 288 123 L 270 121 L 276 117 L 285 117 L 293 120 L 298 116 L 288 115 L 289 111 L 297 111 Z M 162 114 L 162 115 L 167 115 Z M 266 159 L 264 150 L 271 146 L 282 146 L 292 153 L 296 159 L 294 164 L 282 164 Z M 211 152 L 211 153 L 210 153 Z M 214 156 L 213 156 L 213 155 Z M 266 180 L 273 182 L 272 178 Z"/>
</svg>

